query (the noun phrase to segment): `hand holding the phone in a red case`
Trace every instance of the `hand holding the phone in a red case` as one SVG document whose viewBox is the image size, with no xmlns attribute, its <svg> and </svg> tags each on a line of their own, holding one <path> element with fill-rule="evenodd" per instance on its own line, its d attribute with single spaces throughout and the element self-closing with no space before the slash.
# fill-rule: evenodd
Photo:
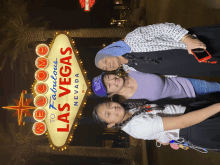
<svg viewBox="0 0 220 165">
<path fill-rule="evenodd" d="M 183 43 L 186 44 L 187 46 L 187 50 L 188 50 L 188 53 L 189 54 L 192 54 L 192 49 L 196 49 L 196 48 L 203 48 L 203 49 L 206 49 L 206 45 L 200 41 L 199 39 L 197 38 L 190 38 L 190 37 L 187 37 Z"/>
</svg>

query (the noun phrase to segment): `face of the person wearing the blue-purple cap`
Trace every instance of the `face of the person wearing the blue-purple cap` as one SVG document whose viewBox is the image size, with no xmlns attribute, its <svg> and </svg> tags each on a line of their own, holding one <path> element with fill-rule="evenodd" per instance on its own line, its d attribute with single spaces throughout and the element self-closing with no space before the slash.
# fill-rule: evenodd
<svg viewBox="0 0 220 165">
<path fill-rule="evenodd" d="M 103 81 L 107 93 L 117 94 L 124 87 L 124 80 L 114 74 L 104 75 Z"/>
</svg>

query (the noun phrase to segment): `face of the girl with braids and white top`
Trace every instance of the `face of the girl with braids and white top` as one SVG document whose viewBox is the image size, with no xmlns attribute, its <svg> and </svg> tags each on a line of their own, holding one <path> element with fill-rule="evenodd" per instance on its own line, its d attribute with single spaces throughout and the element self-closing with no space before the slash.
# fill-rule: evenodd
<svg viewBox="0 0 220 165">
<path fill-rule="evenodd" d="M 125 117 L 125 110 L 121 104 L 107 102 L 101 104 L 97 109 L 99 118 L 108 124 L 121 123 Z"/>
</svg>

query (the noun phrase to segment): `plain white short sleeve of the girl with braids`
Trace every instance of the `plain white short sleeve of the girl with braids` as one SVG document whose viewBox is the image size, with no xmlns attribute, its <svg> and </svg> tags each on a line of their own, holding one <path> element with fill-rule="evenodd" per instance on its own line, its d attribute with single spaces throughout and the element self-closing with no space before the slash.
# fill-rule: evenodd
<svg viewBox="0 0 220 165">
<path fill-rule="evenodd" d="M 137 116 L 123 130 L 130 136 L 143 140 L 158 139 L 159 133 L 164 132 L 162 118 L 157 115 Z"/>
</svg>

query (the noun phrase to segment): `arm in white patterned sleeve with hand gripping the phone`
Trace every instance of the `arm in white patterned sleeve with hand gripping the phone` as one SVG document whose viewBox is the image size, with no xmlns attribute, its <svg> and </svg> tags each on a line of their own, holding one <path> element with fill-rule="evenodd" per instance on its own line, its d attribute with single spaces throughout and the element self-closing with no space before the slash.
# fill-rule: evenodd
<svg viewBox="0 0 220 165">
<path fill-rule="evenodd" d="M 188 34 L 188 30 L 173 23 L 161 23 L 136 28 L 134 31 L 127 34 L 124 41 L 131 47 L 131 45 L 136 45 L 137 42 L 142 44 L 146 41 L 152 41 L 156 38 L 169 41 L 173 40 L 176 42 L 182 41 L 187 46 L 189 54 L 192 54 L 191 50 L 195 48 L 206 49 L 206 46 L 203 42 Z"/>
</svg>

